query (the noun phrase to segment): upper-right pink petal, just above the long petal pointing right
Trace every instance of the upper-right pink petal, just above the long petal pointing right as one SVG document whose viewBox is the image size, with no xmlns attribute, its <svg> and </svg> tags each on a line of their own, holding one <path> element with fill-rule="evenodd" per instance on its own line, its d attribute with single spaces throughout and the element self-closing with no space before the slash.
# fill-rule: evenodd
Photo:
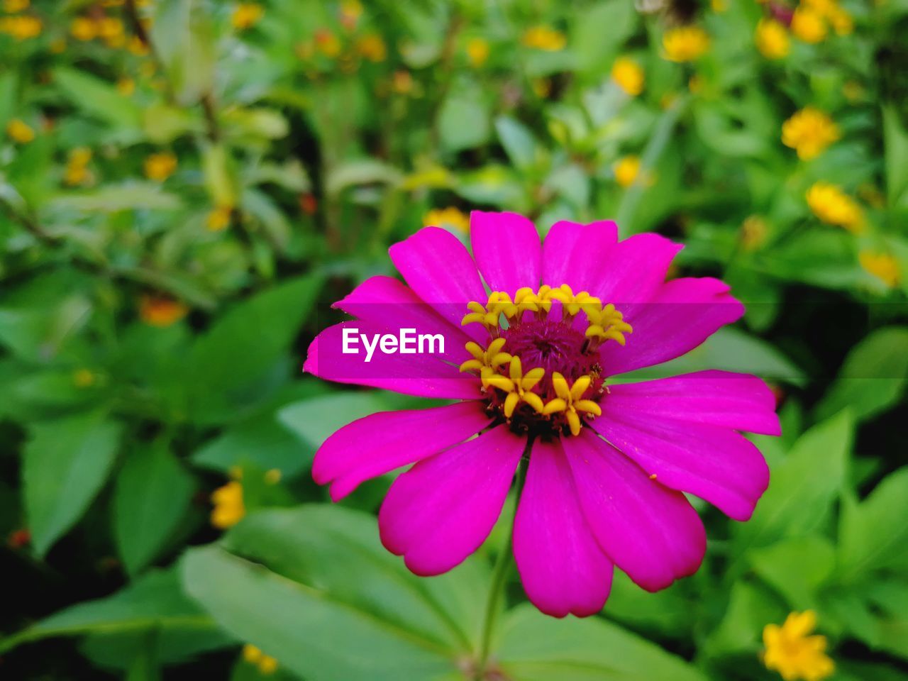
<svg viewBox="0 0 908 681">
<path fill-rule="evenodd" d="M 658 234 L 635 234 L 618 242 L 603 259 L 605 275 L 590 293 L 619 310 L 628 302 L 647 302 L 666 280 L 668 266 L 683 245 Z"/>
</svg>

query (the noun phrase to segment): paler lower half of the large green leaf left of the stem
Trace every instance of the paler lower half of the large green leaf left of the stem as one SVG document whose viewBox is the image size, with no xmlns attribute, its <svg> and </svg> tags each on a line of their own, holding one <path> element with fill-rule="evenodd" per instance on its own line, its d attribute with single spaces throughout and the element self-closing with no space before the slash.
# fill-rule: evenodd
<svg viewBox="0 0 908 681">
<path fill-rule="evenodd" d="M 224 630 L 311 681 L 430 681 L 456 669 L 434 641 L 216 546 L 189 550 L 183 585 Z"/>
</svg>

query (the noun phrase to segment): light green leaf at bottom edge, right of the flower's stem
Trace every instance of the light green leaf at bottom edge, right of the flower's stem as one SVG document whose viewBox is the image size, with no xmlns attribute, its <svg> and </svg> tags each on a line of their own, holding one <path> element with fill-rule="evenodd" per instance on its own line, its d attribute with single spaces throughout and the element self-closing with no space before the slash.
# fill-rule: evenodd
<svg viewBox="0 0 908 681">
<path fill-rule="evenodd" d="M 508 612 L 494 653 L 512 681 L 705 681 L 680 657 L 597 617 L 554 619 L 524 604 Z"/>
</svg>

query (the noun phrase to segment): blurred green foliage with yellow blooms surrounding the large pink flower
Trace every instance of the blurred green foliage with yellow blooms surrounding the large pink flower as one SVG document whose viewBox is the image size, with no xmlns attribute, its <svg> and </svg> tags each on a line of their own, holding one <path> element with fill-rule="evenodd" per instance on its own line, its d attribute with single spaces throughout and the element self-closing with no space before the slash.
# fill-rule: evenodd
<svg viewBox="0 0 908 681">
<path fill-rule="evenodd" d="M 780 678 L 764 627 L 806 610 L 835 679 L 908 678 L 908 2 L 0 10 L 0 677 L 477 677 L 501 528 L 411 576 L 390 477 L 331 506 L 309 470 L 414 400 L 301 360 L 481 208 L 684 242 L 748 310 L 647 375 L 753 372 L 784 422 L 694 577 L 558 621 L 511 575 L 485 678 Z"/>
</svg>

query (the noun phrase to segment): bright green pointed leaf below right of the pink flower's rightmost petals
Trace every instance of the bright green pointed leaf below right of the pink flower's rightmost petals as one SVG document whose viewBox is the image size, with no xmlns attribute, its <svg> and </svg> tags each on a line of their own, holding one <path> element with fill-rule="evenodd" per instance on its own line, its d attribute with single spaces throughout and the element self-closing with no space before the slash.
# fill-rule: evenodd
<svg viewBox="0 0 908 681">
<path fill-rule="evenodd" d="M 754 516 L 735 527 L 735 545 L 766 546 L 822 528 L 846 479 L 854 418 L 844 410 L 807 430 L 772 471 Z"/>
</svg>

